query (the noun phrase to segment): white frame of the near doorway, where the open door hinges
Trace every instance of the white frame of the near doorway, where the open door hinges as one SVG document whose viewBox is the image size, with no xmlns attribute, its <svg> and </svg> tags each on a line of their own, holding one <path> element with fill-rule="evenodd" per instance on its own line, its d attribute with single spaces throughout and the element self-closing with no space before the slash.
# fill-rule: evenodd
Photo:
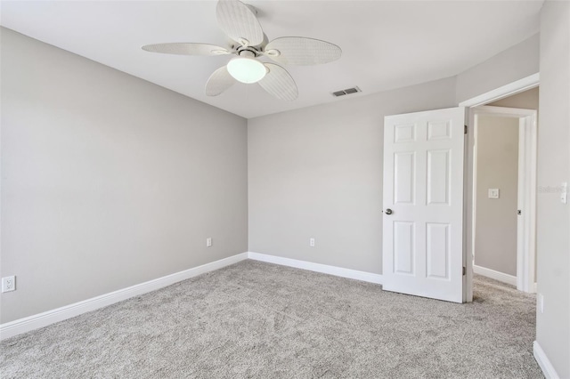
<svg viewBox="0 0 570 379">
<path fill-rule="evenodd" d="M 460 107 L 466 108 L 474 108 L 479 105 L 483 105 L 489 102 L 497 101 L 507 96 L 511 96 L 516 93 L 524 92 L 528 89 L 538 86 L 540 83 L 540 74 L 536 73 L 529 77 L 524 77 L 516 82 L 510 83 L 509 85 L 503 85 L 499 88 L 494 89 L 493 91 L 489 91 L 487 93 L 482 93 L 474 98 L 468 99 L 467 101 L 460 102 Z M 473 152 L 474 152 L 474 142 L 475 142 L 475 135 L 474 135 L 474 128 L 473 128 L 473 118 L 471 116 L 471 111 L 469 110 L 468 120 L 466 120 L 468 127 L 468 143 L 466 146 L 466 170 L 465 170 L 465 178 L 466 178 L 466 186 L 465 186 L 465 222 L 463 224 L 464 236 L 465 240 L 465 248 L 466 248 L 466 266 L 467 266 L 467 275 L 466 275 L 466 286 L 465 288 L 465 300 L 467 302 L 473 301 Z M 533 209 L 533 212 L 535 210 Z M 530 216 L 530 215 L 529 215 Z M 535 214 L 532 217 L 533 222 L 536 220 Z"/>
</svg>

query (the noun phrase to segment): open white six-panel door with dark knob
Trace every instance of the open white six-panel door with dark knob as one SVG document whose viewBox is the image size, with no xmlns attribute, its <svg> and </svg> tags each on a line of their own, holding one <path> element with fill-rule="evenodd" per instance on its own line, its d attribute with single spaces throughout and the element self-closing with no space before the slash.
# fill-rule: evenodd
<svg viewBox="0 0 570 379">
<path fill-rule="evenodd" d="M 383 288 L 463 302 L 465 110 L 385 117 Z"/>
</svg>

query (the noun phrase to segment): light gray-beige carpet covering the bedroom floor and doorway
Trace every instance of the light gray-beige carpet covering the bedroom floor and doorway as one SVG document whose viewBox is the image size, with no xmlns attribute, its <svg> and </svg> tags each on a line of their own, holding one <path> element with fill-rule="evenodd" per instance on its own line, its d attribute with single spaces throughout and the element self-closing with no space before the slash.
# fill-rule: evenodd
<svg viewBox="0 0 570 379">
<path fill-rule="evenodd" d="M 539 378 L 534 296 L 469 304 L 245 261 L 0 343 L 2 378 Z"/>
</svg>

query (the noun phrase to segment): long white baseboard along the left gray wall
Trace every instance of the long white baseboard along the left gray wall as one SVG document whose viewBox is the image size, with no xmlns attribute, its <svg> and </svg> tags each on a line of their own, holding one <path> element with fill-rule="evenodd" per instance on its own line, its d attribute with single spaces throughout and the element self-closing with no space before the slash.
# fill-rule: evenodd
<svg viewBox="0 0 570 379">
<path fill-rule="evenodd" d="M 170 286 L 179 281 L 196 277 L 209 271 L 218 270 L 233 263 L 248 259 L 248 253 L 232 255 L 228 258 L 221 259 L 216 262 L 210 262 L 189 270 L 175 272 L 166 277 L 149 280 L 138 285 L 129 286 L 118 291 L 102 294 L 82 302 L 75 302 L 55 310 L 47 310 L 37 315 L 29 316 L 24 319 L 16 319 L 0 325 L 0 340 L 20 335 L 21 333 L 37 329 L 38 327 L 47 327 L 48 325 L 76 317 L 82 313 L 97 310 L 106 307 L 115 302 L 121 302 L 128 298 L 156 291 L 165 286 Z"/>
</svg>

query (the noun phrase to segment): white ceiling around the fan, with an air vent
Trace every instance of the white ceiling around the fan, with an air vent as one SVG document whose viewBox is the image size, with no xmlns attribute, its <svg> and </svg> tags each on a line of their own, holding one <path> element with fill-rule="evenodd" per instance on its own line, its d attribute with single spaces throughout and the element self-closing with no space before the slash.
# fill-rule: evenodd
<svg viewBox="0 0 570 379">
<path fill-rule="evenodd" d="M 272 40 L 308 36 L 338 44 L 340 60 L 286 67 L 296 101 L 259 85 L 204 94 L 210 74 L 230 56 L 158 54 L 143 44 L 226 46 L 216 1 L 2 1 L 0 24 L 242 117 L 257 117 L 452 77 L 539 30 L 543 0 L 246 1 Z M 359 86 L 362 93 L 330 93 Z"/>
</svg>

